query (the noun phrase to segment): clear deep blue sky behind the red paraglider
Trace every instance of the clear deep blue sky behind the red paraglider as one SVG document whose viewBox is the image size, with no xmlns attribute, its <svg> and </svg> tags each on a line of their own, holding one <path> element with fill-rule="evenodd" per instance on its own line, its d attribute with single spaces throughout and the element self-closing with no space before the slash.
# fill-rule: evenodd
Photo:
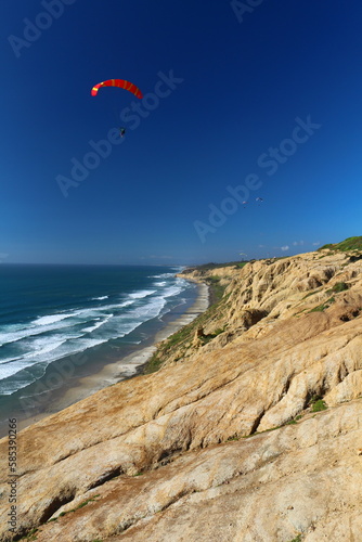
<svg viewBox="0 0 362 542">
<path fill-rule="evenodd" d="M 361 234 L 362 4 L 249 3 L 1 4 L 0 261 L 228 261 Z M 92 98 L 109 78 L 146 102 Z M 65 197 L 59 176 L 78 182 L 70 160 L 119 126 Z"/>
</svg>

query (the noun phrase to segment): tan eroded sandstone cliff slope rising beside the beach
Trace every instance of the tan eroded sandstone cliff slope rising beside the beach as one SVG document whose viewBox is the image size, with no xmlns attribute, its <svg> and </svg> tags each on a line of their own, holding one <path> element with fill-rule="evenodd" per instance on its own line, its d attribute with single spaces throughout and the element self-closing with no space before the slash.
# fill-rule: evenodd
<svg viewBox="0 0 362 542">
<path fill-rule="evenodd" d="M 157 372 L 21 431 L 17 540 L 361 541 L 362 253 L 183 276 L 225 292 Z"/>
</svg>

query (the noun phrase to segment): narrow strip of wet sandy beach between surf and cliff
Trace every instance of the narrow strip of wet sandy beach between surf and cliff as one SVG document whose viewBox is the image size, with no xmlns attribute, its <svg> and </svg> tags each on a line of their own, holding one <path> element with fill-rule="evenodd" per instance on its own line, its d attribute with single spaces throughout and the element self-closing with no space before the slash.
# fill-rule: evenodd
<svg viewBox="0 0 362 542">
<path fill-rule="evenodd" d="M 68 386 L 60 398 L 53 402 L 49 402 L 43 412 L 23 420 L 20 418 L 17 422 L 18 430 L 25 429 L 25 427 L 36 424 L 44 417 L 61 412 L 67 406 L 92 396 L 101 389 L 142 374 L 142 367 L 157 350 L 157 344 L 178 332 L 188 323 L 192 322 L 195 318 L 205 312 L 209 306 L 210 288 L 207 284 L 197 282 L 197 295 L 195 301 L 181 317 L 168 322 L 164 328 L 159 330 L 151 339 L 151 345 L 121 358 L 117 362 L 105 364 L 101 371 L 98 371 L 92 375 L 80 377 L 77 384 Z"/>
</svg>

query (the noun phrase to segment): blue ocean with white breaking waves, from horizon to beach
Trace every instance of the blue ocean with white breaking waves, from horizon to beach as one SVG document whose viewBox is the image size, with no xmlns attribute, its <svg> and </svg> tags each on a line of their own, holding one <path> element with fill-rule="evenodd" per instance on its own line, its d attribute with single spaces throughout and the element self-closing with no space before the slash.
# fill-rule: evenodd
<svg viewBox="0 0 362 542">
<path fill-rule="evenodd" d="M 1 264 L 0 422 L 146 345 L 196 298 L 181 269 Z"/>
</svg>

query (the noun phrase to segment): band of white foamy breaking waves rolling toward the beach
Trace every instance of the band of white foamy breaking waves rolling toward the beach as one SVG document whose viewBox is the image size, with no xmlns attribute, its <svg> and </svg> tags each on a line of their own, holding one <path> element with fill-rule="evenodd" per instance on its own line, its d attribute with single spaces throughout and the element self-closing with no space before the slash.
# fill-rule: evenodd
<svg viewBox="0 0 362 542">
<path fill-rule="evenodd" d="M 46 371 L 55 360 L 125 337 L 143 323 L 159 318 L 163 311 L 167 312 L 174 302 L 170 298 L 186 289 L 190 283 L 181 279 L 169 281 L 174 279 L 172 273 L 153 276 L 157 278 L 158 289 L 126 294 L 118 304 L 54 312 L 28 324 L 8 326 L 8 333 L 0 333 L 0 346 L 1 341 L 18 344 L 9 350 L 4 347 L 4 359 L 0 361 L 1 392 L 11 395 L 34 382 L 34 371 L 38 378 L 42 369 Z"/>
</svg>

